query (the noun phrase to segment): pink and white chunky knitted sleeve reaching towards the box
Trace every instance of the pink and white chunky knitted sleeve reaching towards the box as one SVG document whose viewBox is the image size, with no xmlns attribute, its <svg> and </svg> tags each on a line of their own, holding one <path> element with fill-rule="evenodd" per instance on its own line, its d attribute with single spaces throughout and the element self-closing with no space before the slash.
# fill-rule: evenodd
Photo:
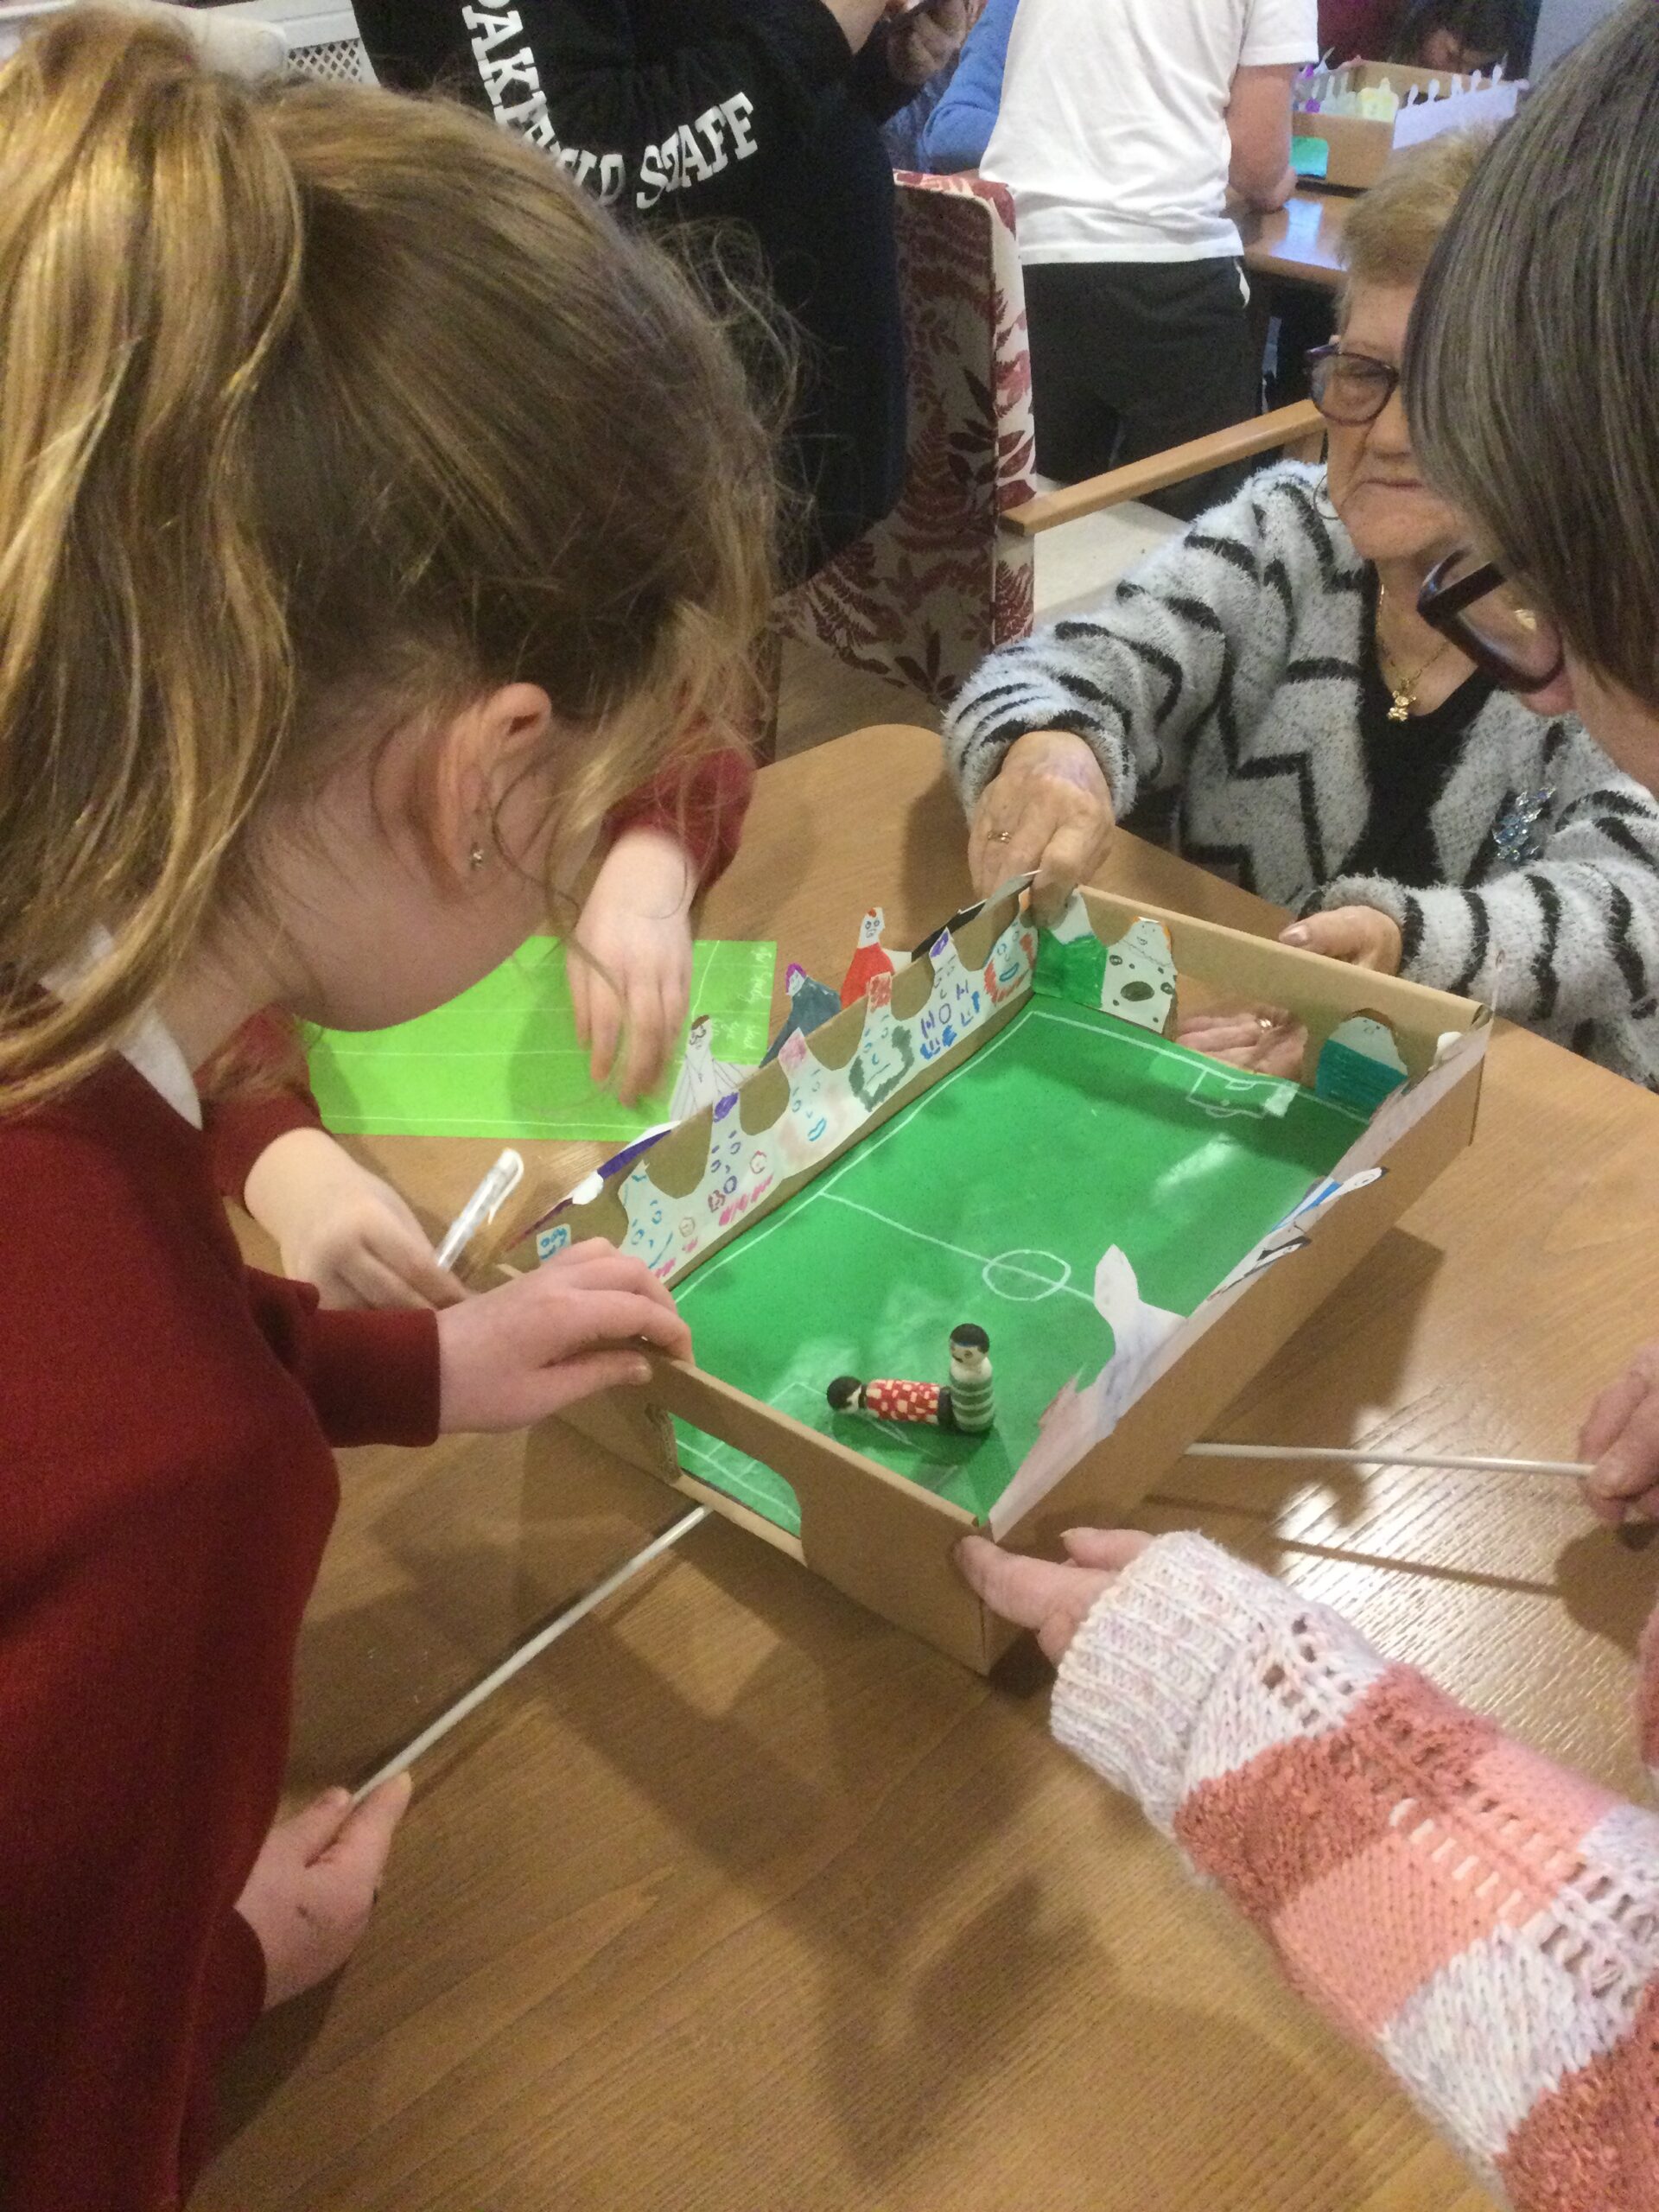
<svg viewBox="0 0 1659 2212">
<path fill-rule="evenodd" d="M 1659 2212 L 1659 1816 L 1197 1535 L 1099 1599 L 1053 1732 L 1524 2212 Z"/>
</svg>

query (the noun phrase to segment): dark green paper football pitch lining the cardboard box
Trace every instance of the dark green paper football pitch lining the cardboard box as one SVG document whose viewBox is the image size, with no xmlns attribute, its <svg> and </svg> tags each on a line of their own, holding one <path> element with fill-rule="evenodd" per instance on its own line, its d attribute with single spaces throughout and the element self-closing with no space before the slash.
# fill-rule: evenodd
<svg viewBox="0 0 1659 2212">
<path fill-rule="evenodd" d="M 1113 1332 L 1095 1267 L 1190 1314 L 1354 1144 L 1365 1117 L 1117 1015 L 1031 1000 L 953 1075 L 675 1292 L 697 1363 L 971 1513 L 987 1513 Z M 991 1336 L 987 1438 L 832 1413 L 834 1376 L 945 1383 L 962 1321 Z M 772 1469 L 677 1422 L 686 1469 L 799 1535 Z"/>
</svg>

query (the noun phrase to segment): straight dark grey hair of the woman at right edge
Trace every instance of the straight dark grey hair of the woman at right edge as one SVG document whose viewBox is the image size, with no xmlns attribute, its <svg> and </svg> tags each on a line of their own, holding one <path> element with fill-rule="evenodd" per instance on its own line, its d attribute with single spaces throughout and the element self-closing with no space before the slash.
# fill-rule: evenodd
<svg viewBox="0 0 1659 2212">
<path fill-rule="evenodd" d="M 1601 677 L 1659 706 L 1659 0 L 1551 71 L 1418 292 L 1425 473 Z"/>
</svg>

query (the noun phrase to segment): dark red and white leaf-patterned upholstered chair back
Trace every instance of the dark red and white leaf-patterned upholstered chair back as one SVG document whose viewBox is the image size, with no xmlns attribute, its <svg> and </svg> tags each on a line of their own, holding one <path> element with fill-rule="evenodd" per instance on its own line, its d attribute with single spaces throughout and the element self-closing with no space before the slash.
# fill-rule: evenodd
<svg viewBox="0 0 1659 2212">
<path fill-rule="evenodd" d="M 781 608 L 787 637 L 947 706 L 984 655 L 1031 630 L 1031 361 L 1013 199 L 980 177 L 900 170 L 898 279 L 909 469 L 894 513 Z"/>
</svg>

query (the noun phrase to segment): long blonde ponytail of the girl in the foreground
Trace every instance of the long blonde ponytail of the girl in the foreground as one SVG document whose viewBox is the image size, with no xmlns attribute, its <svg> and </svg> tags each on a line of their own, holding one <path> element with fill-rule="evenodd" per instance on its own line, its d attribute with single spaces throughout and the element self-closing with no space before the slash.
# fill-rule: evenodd
<svg viewBox="0 0 1659 2212">
<path fill-rule="evenodd" d="M 250 411 L 299 299 L 259 104 L 84 9 L 0 73 L 0 1088 L 73 1082 L 215 896 L 292 703 Z M 113 951 L 64 1002 L 97 916 Z"/>
</svg>

